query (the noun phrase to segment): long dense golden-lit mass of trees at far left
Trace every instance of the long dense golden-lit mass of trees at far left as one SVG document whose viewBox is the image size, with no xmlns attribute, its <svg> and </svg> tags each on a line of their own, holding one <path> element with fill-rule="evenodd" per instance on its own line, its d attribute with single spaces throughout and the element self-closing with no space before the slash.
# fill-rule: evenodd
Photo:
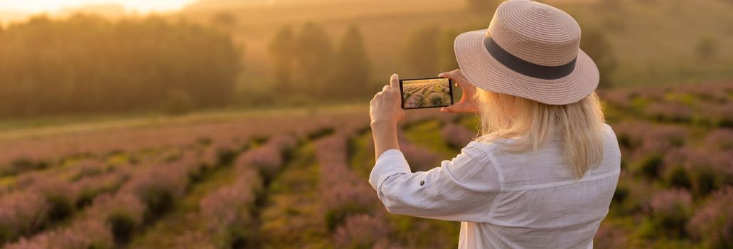
<svg viewBox="0 0 733 249">
<path fill-rule="evenodd" d="M 221 106 L 240 54 L 185 21 L 35 17 L 0 29 L 0 116 Z"/>
</svg>

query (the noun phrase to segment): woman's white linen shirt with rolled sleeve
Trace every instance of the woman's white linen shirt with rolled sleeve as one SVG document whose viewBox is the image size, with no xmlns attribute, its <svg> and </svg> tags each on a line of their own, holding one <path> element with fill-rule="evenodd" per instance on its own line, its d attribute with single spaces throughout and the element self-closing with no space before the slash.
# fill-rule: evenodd
<svg viewBox="0 0 733 249">
<path fill-rule="evenodd" d="M 458 248 L 592 248 L 621 165 L 616 134 L 604 126 L 603 159 L 577 180 L 553 137 L 523 154 L 470 142 L 441 167 L 416 173 L 391 149 L 369 184 L 391 214 L 460 221 Z"/>
</svg>

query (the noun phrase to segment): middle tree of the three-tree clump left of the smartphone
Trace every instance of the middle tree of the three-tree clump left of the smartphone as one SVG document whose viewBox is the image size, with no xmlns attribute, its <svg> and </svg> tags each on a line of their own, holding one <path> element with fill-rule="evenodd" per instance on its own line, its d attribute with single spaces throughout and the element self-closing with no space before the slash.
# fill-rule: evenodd
<svg viewBox="0 0 733 249">
<path fill-rule="evenodd" d="M 323 26 L 314 23 L 303 25 L 295 40 L 295 79 L 299 83 L 295 88 L 312 96 L 319 95 L 328 87 L 324 79 L 331 66 L 331 40 Z"/>
</svg>

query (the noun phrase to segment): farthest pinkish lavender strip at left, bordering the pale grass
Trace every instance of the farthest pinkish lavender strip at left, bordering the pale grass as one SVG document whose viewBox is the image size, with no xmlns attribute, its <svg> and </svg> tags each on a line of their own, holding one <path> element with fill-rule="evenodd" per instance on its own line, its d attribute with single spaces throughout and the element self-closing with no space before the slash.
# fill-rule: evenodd
<svg viewBox="0 0 733 249">
<path fill-rule="evenodd" d="M 39 138 L 0 140 L 0 176 L 58 165 L 75 156 L 104 156 L 116 151 L 136 152 L 151 148 L 184 148 L 197 143 L 246 142 L 252 134 L 284 132 L 306 134 L 333 127 L 368 123 L 359 112 L 298 112 L 292 115 L 263 115 L 225 122 L 187 123 L 185 125 L 140 126 Z M 273 123 L 279 125 L 273 126 Z"/>
</svg>

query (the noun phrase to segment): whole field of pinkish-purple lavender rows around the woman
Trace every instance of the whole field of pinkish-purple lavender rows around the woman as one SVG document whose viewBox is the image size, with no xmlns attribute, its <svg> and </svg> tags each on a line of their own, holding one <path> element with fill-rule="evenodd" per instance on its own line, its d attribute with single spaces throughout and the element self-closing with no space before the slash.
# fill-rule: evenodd
<svg viewBox="0 0 733 249">
<path fill-rule="evenodd" d="M 622 176 L 597 248 L 733 247 L 733 84 L 601 92 Z M 413 171 L 476 117 L 410 110 Z M 366 107 L 0 140 L 2 248 L 455 248 L 459 223 L 389 214 Z"/>
</svg>

